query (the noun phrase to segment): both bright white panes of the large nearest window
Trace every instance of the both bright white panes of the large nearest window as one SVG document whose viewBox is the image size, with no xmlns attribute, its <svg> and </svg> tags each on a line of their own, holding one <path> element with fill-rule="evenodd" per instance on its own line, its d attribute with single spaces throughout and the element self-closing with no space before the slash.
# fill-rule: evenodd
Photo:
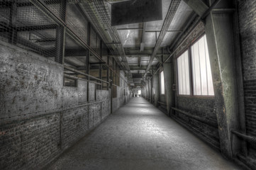
<svg viewBox="0 0 256 170">
<path fill-rule="evenodd" d="M 179 94 L 190 95 L 193 86 L 193 95 L 214 96 L 206 35 L 177 58 L 177 71 Z"/>
</svg>

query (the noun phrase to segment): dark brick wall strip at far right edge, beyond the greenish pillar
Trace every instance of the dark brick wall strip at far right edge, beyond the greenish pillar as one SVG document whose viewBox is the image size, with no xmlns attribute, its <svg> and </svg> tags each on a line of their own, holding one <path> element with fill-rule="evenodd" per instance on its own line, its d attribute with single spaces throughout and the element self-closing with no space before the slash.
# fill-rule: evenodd
<svg viewBox="0 0 256 170">
<path fill-rule="evenodd" d="M 247 135 L 256 137 L 256 1 L 238 1 L 238 19 L 243 67 L 245 125 Z M 253 146 L 249 146 L 252 149 Z M 250 151 L 250 153 L 255 152 Z"/>
</svg>

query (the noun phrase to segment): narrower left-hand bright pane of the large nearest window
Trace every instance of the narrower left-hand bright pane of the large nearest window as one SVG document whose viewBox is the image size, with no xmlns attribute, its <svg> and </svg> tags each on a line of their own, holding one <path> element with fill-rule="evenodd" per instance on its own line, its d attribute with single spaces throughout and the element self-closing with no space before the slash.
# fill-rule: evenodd
<svg viewBox="0 0 256 170">
<path fill-rule="evenodd" d="M 184 52 L 177 59 L 178 65 L 178 84 L 179 94 L 190 94 L 190 77 L 189 77 L 189 52 Z"/>
</svg>

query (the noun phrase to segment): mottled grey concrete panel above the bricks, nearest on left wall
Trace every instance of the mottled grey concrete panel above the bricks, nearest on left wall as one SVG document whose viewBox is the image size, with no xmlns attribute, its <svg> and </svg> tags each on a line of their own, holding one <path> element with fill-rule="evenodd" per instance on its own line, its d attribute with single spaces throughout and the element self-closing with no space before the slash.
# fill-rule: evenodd
<svg viewBox="0 0 256 170">
<path fill-rule="evenodd" d="M 0 118 L 62 106 L 62 66 L 26 50 L 0 45 Z"/>
</svg>

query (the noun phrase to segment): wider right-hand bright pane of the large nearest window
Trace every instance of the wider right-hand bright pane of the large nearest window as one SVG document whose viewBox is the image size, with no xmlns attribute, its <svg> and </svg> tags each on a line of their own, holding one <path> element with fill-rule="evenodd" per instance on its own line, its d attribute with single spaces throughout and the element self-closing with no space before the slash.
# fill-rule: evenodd
<svg viewBox="0 0 256 170">
<path fill-rule="evenodd" d="M 206 35 L 191 46 L 194 95 L 213 96 L 213 80 Z"/>
</svg>

